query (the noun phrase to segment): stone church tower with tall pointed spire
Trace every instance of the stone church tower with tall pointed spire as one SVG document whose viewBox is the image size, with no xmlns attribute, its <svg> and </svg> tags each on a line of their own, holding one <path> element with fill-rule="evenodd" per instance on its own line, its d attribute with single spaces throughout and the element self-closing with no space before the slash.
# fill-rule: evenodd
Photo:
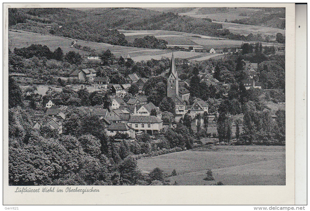
<svg viewBox="0 0 310 211">
<path fill-rule="evenodd" d="M 175 60 L 172 53 L 169 77 L 167 79 L 167 97 L 179 96 L 179 77 L 175 67 Z"/>
</svg>

